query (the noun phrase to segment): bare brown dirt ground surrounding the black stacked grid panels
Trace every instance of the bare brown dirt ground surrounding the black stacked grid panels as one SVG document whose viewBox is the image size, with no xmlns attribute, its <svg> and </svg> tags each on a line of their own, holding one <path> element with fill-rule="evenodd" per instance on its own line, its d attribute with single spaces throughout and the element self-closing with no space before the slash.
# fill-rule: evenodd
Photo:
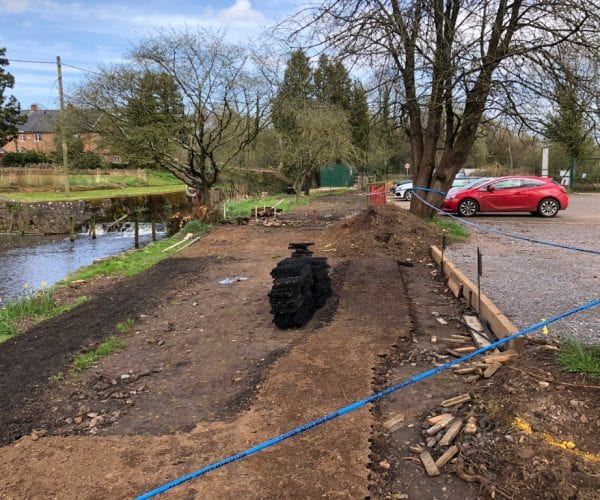
<svg viewBox="0 0 600 500">
<path fill-rule="evenodd" d="M 438 236 L 364 203 L 324 197 L 283 225 L 217 227 L 141 276 L 64 292 L 94 299 L 0 346 L 0 498 L 131 498 L 439 364 L 465 330 L 428 258 Z M 335 293 L 281 331 L 269 273 L 293 241 L 329 258 Z M 219 284 L 231 277 L 247 279 Z M 128 318 L 125 350 L 70 371 Z M 486 380 L 443 372 L 166 496 L 598 498 L 599 388 L 558 372 L 551 348 L 532 340 Z M 410 447 L 463 393 L 450 412 L 478 432 L 430 478 Z"/>
</svg>

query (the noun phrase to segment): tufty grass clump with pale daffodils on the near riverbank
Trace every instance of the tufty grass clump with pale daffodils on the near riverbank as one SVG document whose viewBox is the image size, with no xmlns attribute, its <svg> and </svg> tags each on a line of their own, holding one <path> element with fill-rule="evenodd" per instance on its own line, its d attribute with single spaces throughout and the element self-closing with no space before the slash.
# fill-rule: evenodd
<svg viewBox="0 0 600 500">
<path fill-rule="evenodd" d="M 43 288 L 37 292 L 25 290 L 21 297 L 9 302 L 0 309 L 0 343 L 21 333 L 21 324 L 35 325 L 72 309 L 88 300 L 80 297 L 71 304 L 58 305 L 52 296 L 52 289 Z"/>
</svg>

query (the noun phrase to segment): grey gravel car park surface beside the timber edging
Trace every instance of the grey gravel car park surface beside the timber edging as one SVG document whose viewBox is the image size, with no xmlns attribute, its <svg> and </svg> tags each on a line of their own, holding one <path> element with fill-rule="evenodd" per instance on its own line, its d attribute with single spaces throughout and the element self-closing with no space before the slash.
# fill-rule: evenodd
<svg viewBox="0 0 600 500">
<path fill-rule="evenodd" d="M 527 238 L 600 250 L 600 217 L 584 222 L 564 219 L 561 221 L 559 215 L 550 220 L 534 217 L 470 220 Z M 600 297 L 598 255 L 471 230 L 469 241 L 447 249 L 446 255 L 474 281 L 477 247 L 483 255 L 483 293 L 519 329 Z M 585 343 L 600 343 L 600 310 L 596 307 L 553 323 L 549 331 L 557 336 L 574 336 Z"/>
</svg>

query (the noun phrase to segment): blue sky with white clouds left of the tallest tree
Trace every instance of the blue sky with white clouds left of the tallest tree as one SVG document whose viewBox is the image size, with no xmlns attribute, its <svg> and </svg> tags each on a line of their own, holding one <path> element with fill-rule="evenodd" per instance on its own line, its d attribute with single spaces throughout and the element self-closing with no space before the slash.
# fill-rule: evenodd
<svg viewBox="0 0 600 500">
<path fill-rule="evenodd" d="M 14 95 L 22 109 L 58 109 L 56 56 L 68 94 L 86 75 L 69 66 L 94 71 L 118 63 L 157 29 L 200 26 L 243 42 L 297 9 L 294 0 L 0 0 L 0 48 L 15 77 L 5 97 Z"/>
</svg>

